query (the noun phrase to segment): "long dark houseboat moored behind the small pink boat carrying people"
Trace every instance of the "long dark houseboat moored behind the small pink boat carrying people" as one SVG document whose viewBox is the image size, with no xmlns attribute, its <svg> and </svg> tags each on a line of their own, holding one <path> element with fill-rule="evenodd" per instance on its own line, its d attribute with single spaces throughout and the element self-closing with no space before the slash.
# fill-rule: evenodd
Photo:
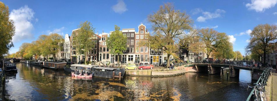
<svg viewBox="0 0 277 101">
<path fill-rule="evenodd" d="M 121 72 L 121 78 L 124 76 L 125 69 L 124 68 L 108 68 L 108 67 L 100 67 L 96 65 L 81 65 L 81 64 L 72 64 L 71 65 L 71 72 L 74 72 L 74 70 L 83 70 L 84 72 L 89 72 L 90 74 L 93 74 L 93 76 L 96 77 L 103 77 L 103 78 L 113 78 L 113 72 L 114 76 L 119 76 L 119 72 Z"/>
</svg>

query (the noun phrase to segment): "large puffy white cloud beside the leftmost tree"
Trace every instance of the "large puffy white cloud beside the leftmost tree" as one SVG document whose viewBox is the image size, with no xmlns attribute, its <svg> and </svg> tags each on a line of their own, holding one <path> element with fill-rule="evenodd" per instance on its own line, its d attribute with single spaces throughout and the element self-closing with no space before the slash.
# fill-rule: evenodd
<svg viewBox="0 0 277 101">
<path fill-rule="evenodd" d="M 10 13 L 10 19 L 15 22 L 15 35 L 13 36 L 13 42 L 19 42 L 21 40 L 33 39 L 32 31 L 34 19 L 34 11 L 28 8 L 27 5 L 17 10 L 12 10 Z"/>
</svg>

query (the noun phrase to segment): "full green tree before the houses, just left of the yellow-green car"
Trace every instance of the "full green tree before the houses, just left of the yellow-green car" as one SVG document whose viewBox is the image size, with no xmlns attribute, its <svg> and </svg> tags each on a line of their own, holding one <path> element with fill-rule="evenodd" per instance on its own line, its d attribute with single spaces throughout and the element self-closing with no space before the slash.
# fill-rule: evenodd
<svg viewBox="0 0 277 101">
<path fill-rule="evenodd" d="M 127 37 L 123 35 L 123 33 L 120 31 L 120 27 L 118 27 L 117 25 L 115 25 L 114 29 L 115 31 L 111 32 L 106 42 L 110 53 L 113 55 L 117 55 L 119 66 L 119 55 L 122 55 L 122 52 L 126 50 Z"/>
</svg>

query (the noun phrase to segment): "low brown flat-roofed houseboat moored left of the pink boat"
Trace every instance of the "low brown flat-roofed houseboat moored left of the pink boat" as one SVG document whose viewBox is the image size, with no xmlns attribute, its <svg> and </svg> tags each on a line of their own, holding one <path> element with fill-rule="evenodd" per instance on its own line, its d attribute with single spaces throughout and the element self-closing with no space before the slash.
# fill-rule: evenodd
<svg viewBox="0 0 277 101">
<path fill-rule="evenodd" d="M 58 62 L 58 61 L 43 61 L 43 66 L 55 69 L 63 69 L 66 65 L 66 62 Z"/>
</svg>

